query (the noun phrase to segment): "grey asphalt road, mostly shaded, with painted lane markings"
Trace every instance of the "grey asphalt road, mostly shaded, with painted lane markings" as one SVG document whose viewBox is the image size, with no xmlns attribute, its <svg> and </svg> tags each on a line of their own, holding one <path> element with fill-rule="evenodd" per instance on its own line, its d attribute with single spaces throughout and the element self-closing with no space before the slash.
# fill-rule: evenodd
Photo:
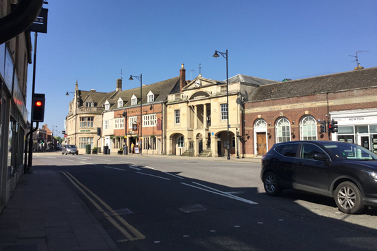
<svg viewBox="0 0 377 251">
<path fill-rule="evenodd" d="M 341 213 L 297 191 L 273 198 L 260 163 L 34 155 L 86 202 L 120 250 L 376 250 L 377 210 Z"/>
</svg>

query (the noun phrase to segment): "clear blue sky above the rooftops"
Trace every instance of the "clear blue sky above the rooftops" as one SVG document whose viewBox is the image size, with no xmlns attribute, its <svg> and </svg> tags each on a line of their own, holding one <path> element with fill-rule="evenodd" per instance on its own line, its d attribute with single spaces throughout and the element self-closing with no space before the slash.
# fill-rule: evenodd
<svg viewBox="0 0 377 251">
<path fill-rule="evenodd" d="M 282 81 L 377 66 L 376 0 L 49 0 L 48 33 L 38 34 L 36 93 L 46 94 L 45 122 L 63 130 L 74 92 L 111 92 L 179 75 L 237 74 Z M 34 44 L 34 33 L 32 33 Z M 27 109 L 32 94 L 29 65 Z M 189 70 L 195 70 L 191 72 Z M 55 133 L 56 134 L 56 133 Z"/>
</svg>

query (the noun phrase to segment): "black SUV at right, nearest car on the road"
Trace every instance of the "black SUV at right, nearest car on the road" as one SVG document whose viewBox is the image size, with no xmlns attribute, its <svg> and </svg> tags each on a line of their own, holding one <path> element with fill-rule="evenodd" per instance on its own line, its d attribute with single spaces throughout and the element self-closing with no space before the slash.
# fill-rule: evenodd
<svg viewBox="0 0 377 251">
<path fill-rule="evenodd" d="M 356 144 L 274 144 L 263 156 L 260 179 L 270 196 L 279 196 L 283 189 L 297 189 L 335 198 L 343 213 L 377 207 L 377 155 Z"/>
</svg>

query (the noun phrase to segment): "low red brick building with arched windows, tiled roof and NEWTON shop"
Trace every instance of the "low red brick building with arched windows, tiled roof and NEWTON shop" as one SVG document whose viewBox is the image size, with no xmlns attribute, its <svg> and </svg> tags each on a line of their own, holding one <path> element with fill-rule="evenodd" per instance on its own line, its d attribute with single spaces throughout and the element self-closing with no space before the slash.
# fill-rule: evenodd
<svg viewBox="0 0 377 251">
<path fill-rule="evenodd" d="M 338 121 L 331 140 L 377 150 L 377 68 L 261 85 L 244 113 L 243 157 L 264 155 L 278 142 L 329 140 L 319 132 L 324 119 Z"/>
</svg>

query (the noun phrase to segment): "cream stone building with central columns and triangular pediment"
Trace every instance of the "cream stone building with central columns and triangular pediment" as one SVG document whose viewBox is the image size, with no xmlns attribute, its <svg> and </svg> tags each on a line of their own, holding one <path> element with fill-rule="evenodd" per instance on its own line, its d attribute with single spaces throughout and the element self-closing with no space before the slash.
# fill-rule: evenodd
<svg viewBox="0 0 377 251">
<path fill-rule="evenodd" d="M 182 65 L 181 72 L 184 72 Z M 167 154 L 222 157 L 228 150 L 228 114 L 230 155 L 240 156 L 243 130 L 243 102 L 260 85 L 275 83 L 246 75 L 226 81 L 206 79 L 200 74 L 180 92 L 167 98 Z"/>
</svg>

